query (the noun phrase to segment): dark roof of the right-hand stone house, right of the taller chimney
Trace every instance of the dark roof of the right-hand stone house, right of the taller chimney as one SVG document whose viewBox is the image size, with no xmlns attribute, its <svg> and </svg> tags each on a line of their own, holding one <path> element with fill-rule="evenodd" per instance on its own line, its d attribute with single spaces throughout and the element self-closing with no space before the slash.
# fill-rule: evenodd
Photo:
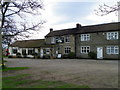
<svg viewBox="0 0 120 90">
<path fill-rule="evenodd" d="M 120 22 L 83 26 L 76 33 L 78 34 L 78 33 L 107 32 L 107 31 L 118 31 L 118 30 L 120 30 Z"/>
</svg>

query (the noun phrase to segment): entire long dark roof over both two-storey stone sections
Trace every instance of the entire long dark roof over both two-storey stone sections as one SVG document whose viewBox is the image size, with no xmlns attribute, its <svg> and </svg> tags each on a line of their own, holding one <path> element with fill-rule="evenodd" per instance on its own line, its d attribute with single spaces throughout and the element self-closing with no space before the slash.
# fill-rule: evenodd
<svg viewBox="0 0 120 90">
<path fill-rule="evenodd" d="M 120 27 L 118 26 L 120 26 L 120 22 L 81 26 L 79 29 L 70 28 L 70 29 L 55 30 L 55 31 L 49 32 L 45 37 L 72 35 L 72 34 L 79 34 L 79 33 L 116 31 L 120 29 Z"/>
</svg>

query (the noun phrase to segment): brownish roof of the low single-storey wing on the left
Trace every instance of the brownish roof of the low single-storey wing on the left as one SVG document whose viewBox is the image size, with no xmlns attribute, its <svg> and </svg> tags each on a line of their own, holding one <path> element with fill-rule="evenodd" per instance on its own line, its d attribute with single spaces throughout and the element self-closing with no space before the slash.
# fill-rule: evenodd
<svg viewBox="0 0 120 90">
<path fill-rule="evenodd" d="M 13 44 L 11 44 L 10 46 L 11 47 L 20 47 L 20 48 L 50 47 L 50 45 L 45 44 L 45 39 L 16 41 Z"/>
</svg>

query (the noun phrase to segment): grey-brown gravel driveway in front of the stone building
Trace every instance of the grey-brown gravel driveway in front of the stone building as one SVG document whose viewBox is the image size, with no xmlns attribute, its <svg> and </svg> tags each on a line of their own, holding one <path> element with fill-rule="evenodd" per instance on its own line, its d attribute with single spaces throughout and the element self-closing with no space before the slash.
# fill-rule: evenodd
<svg viewBox="0 0 120 90">
<path fill-rule="evenodd" d="M 9 67 L 30 69 L 4 72 L 3 76 L 32 74 L 32 79 L 58 80 L 91 88 L 118 88 L 118 61 L 87 59 L 5 59 Z"/>
</svg>

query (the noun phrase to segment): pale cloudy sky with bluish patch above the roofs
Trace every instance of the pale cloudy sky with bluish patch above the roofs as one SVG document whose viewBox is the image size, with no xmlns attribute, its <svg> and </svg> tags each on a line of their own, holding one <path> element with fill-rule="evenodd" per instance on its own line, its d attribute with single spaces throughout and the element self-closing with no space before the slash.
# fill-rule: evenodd
<svg viewBox="0 0 120 90">
<path fill-rule="evenodd" d="M 100 4 L 117 4 L 119 0 L 42 0 L 44 9 L 42 19 L 46 20 L 40 32 L 31 39 L 40 39 L 49 33 L 49 29 L 60 30 L 74 28 L 76 23 L 82 26 L 117 22 L 115 13 L 106 16 L 97 16 L 94 12 Z M 101 1 L 101 2 L 100 2 Z M 38 18 L 39 19 L 39 18 Z"/>
</svg>

